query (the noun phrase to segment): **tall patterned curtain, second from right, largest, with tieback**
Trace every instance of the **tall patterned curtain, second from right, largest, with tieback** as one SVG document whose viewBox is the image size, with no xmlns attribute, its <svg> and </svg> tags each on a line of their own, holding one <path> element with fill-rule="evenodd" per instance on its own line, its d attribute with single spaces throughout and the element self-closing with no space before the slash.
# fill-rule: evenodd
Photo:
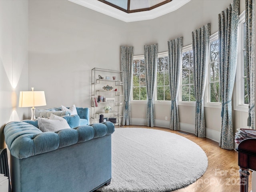
<svg viewBox="0 0 256 192">
<path fill-rule="evenodd" d="M 238 54 L 238 16 L 239 0 L 233 0 L 232 4 L 218 15 L 220 92 L 222 98 L 219 146 L 230 150 L 234 149 L 232 92 Z"/>
</svg>

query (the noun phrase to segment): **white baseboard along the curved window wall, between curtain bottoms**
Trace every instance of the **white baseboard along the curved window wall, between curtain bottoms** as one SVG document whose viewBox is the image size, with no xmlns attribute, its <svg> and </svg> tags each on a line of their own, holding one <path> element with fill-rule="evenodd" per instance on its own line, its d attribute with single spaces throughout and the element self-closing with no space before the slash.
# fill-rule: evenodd
<svg viewBox="0 0 256 192">
<path fill-rule="evenodd" d="M 146 125 L 146 119 L 142 118 L 132 118 L 131 119 L 132 125 Z M 155 120 L 155 124 L 158 127 L 170 128 L 170 122 L 167 120 Z M 180 130 L 188 132 L 188 133 L 195 133 L 195 125 L 187 124 L 187 123 L 180 123 Z M 206 138 L 220 142 L 220 132 L 212 129 L 206 128 Z"/>
</svg>

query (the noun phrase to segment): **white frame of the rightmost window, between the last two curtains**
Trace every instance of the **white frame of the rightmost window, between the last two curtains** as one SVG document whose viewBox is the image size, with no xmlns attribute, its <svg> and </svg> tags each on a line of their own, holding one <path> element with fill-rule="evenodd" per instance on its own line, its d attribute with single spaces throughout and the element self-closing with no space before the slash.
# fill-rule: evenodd
<svg viewBox="0 0 256 192">
<path fill-rule="evenodd" d="M 238 21 L 238 58 L 236 67 L 236 79 L 234 86 L 234 110 L 248 112 L 248 104 L 243 104 L 244 101 L 244 22 L 245 22 L 245 11 L 239 16 Z M 243 90 L 243 91 L 239 91 Z"/>
</svg>

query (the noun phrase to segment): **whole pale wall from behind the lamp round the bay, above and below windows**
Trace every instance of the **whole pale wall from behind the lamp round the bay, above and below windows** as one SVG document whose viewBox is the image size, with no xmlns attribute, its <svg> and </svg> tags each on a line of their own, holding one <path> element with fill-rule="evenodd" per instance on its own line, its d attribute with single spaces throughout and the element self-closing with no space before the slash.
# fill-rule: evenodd
<svg viewBox="0 0 256 192">
<path fill-rule="evenodd" d="M 91 69 L 120 70 L 120 46 L 134 46 L 134 55 L 144 54 L 144 45 L 158 43 L 159 52 L 168 50 L 167 41 L 184 37 L 211 23 L 218 31 L 218 14 L 232 0 L 192 0 L 180 9 L 140 22 L 125 23 L 69 1 L 29 1 L 28 87 L 44 90 L 46 107 L 76 104 L 90 107 Z M 240 0 L 240 12 L 244 0 Z M 144 124 L 146 104 L 132 104 L 132 119 Z M 218 140 L 219 108 L 205 108 L 207 136 Z M 181 127 L 194 132 L 194 106 L 179 106 Z M 168 127 L 170 105 L 155 104 L 157 125 Z M 237 120 L 239 117 L 239 120 Z M 247 114 L 234 111 L 234 130 L 246 126 Z M 213 136 L 214 135 L 214 136 Z"/>
</svg>

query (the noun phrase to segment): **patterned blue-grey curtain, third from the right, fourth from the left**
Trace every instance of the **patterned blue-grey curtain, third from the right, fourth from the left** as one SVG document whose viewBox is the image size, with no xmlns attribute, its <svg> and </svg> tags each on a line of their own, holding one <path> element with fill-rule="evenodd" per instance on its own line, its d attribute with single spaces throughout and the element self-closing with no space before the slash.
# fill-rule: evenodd
<svg viewBox="0 0 256 192">
<path fill-rule="evenodd" d="M 210 49 L 210 23 L 192 32 L 194 87 L 196 98 L 195 135 L 205 137 L 204 90 Z"/>
</svg>

